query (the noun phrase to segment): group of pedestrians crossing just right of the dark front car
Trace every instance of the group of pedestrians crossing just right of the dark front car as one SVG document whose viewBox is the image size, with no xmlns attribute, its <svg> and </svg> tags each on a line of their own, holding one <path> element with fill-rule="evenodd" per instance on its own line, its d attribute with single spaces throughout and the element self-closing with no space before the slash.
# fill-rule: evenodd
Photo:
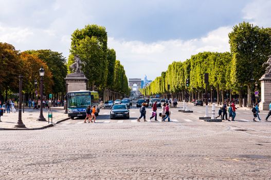
<svg viewBox="0 0 271 180">
<path fill-rule="evenodd" d="M 155 121 L 157 120 L 157 101 L 154 102 L 152 106 L 152 115 L 150 117 L 150 120 L 154 118 Z M 142 106 L 140 107 L 140 117 L 137 119 L 138 122 L 140 122 L 140 119 L 143 117 L 144 122 L 147 122 L 146 120 L 146 103 L 142 103 Z M 164 103 L 162 105 L 162 110 L 160 113 L 161 121 L 165 121 L 168 118 L 168 121 L 170 121 L 170 110 L 169 110 L 169 103 Z"/>
</svg>

